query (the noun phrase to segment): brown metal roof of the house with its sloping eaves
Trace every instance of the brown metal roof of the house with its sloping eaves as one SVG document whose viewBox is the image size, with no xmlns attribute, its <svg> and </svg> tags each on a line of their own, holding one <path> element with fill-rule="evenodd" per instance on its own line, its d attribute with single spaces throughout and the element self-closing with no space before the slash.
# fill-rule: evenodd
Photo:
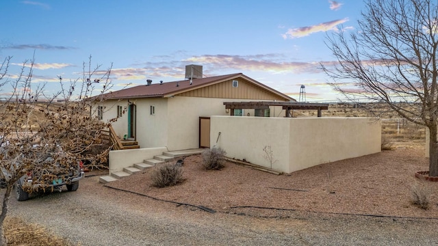
<svg viewBox="0 0 438 246">
<path fill-rule="evenodd" d="M 290 98 L 289 96 L 278 92 L 271 87 L 268 87 L 266 85 L 263 85 L 262 83 L 259 83 L 258 81 L 255 81 L 253 79 L 250 79 L 249 77 L 246 77 L 242 73 L 235 73 L 235 74 L 227 74 L 227 75 L 220 75 L 215 77 L 206 77 L 202 79 L 193 79 L 192 85 L 190 85 L 190 80 L 182 80 L 182 81 L 172 81 L 172 82 L 166 82 L 166 83 L 153 83 L 151 85 L 138 85 L 135 87 L 129 87 L 123 90 L 118 90 L 116 92 L 109 92 L 107 94 L 103 94 L 102 97 L 104 99 L 127 99 L 127 98 L 151 98 L 151 97 L 170 97 L 174 96 L 175 94 L 188 92 L 191 90 L 196 90 L 201 87 L 205 87 L 208 85 L 213 85 L 215 83 L 221 83 L 223 81 L 227 81 L 230 79 L 235 79 L 237 77 L 242 77 L 251 83 L 263 87 L 263 89 L 268 90 L 274 94 L 277 94 L 285 100 L 294 100 L 293 98 Z M 179 86 L 177 86 L 179 85 Z M 100 97 L 100 96 L 99 96 Z"/>
</svg>

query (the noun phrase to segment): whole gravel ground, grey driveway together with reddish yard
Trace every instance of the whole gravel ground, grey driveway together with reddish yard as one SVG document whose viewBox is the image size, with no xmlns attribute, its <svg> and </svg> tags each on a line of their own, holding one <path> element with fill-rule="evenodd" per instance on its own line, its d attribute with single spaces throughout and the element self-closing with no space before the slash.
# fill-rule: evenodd
<svg viewBox="0 0 438 246">
<path fill-rule="evenodd" d="M 143 179 L 132 178 L 131 182 L 124 180 L 112 184 L 114 187 L 117 185 L 119 188 L 129 188 L 136 192 L 141 191 L 146 195 L 161 195 L 160 198 L 175 199 L 191 204 L 203 204 L 214 208 L 218 213 L 207 213 L 205 210 L 192 206 L 176 206 L 172 203 L 160 202 L 142 195 L 110 189 L 103 184 L 99 184 L 97 182 L 98 177 L 94 176 L 82 180 L 81 187 L 75 192 L 63 191 L 62 193 L 39 195 L 27 202 L 16 202 L 12 197 L 8 216 L 19 217 L 29 223 L 38 223 L 45 226 L 47 230 L 57 236 L 66 238 L 73 245 L 437 245 L 436 228 L 438 226 L 438 217 L 435 214 L 437 208 L 432 207 L 424 212 L 409 205 L 406 194 L 403 193 L 404 191 L 400 191 L 403 193 L 400 196 L 398 191 L 388 193 L 386 190 L 377 189 L 373 186 L 376 180 L 363 183 L 363 180 L 357 180 L 356 178 L 356 182 L 352 182 L 348 178 L 347 171 L 353 172 L 355 169 L 362 170 L 365 168 L 365 170 L 368 170 L 368 172 L 365 172 L 367 177 L 372 178 L 373 170 L 376 169 L 376 166 L 374 166 L 376 164 L 373 163 L 378 162 L 379 158 L 383 162 L 391 157 L 394 159 L 394 165 L 398 164 L 398 169 L 401 169 L 402 173 L 407 172 L 404 168 L 408 168 L 409 172 L 411 172 L 411 169 L 424 169 L 425 163 L 424 158 L 421 158 L 421 152 L 417 150 L 383 152 L 368 156 L 368 165 L 363 165 L 361 163 L 367 163 L 365 157 L 350 159 L 352 164 L 330 163 L 328 165 L 331 170 L 330 189 L 327 188 L 324 181 L 318 180 L 317 176 L 318 170 L 326 167 L 314 167 L 315 170 L 311 172 L 311 174 L 314 174 L 313 179 L 309 178 L 307 183 L 294 175 L 273 176 L 281 179 L 285 178 L 285 180 L 275 183 L 276 186 L 283 184 L 288 188 L 309 189 L 308 192 L 298 192 L 300 195 L 296 197 L 289 197 L 290 195 L 288 195 L 288 205 L 281 205 L 281 202 L 279 204 L 272 203 L 282 196 L 281 193 L 276 193 L 276 191 L 270 191 L 269 195 L 271 196 L 267 198 L 266 194 L 260 193 L 252 193 L 253 197 L 250 197 L 247 194 L 252 191 L 249 186 L 244 186 L 248 187 L 247 193 L 240 193 L 240 190 L 232 189 L 235 184 L 222 176 L 226 174 L 227 169 L 229 171 L 240 171 L 241 177 L 244 174 L 244 177 L 259 178 L 260 185 L 263 182 L 270 182 L 270 185 L 273 185 L 271 178 L 269 178 L 272 175 L 266 173 L 262 173 L 262 175 L 261 172 L 257 171 L 257 175 L 261 176 L 254 176 L 256 174 L 252 173 L 253 169 L 228 164 L 227 168 L 220 171 L 220 173 L 213 173 L 214 176 L 221 174 L 218 176 L 222 178 L 220 184 L 223 187 L 228 185 L 229 190 L 229 193 L 222 194 L 220 199 L 216 198 L 216 200 L 212 197 L 216 194 L 216 190 L 223 193 L 227 189 L 209 187 L 209 189 L 203 191 L 205 188 L 201 189 L 202 186 L 198 183 L 196 185 L 192 184 L 189 179 L 181 184 L 179 193 L 167 188 L 162 189 L 161 193 L 154 193 L 153 189 L 145 185 L 144 177 Z M 417 163 L 413 164 L 413 167 L 405 167 L 400 164 L 405 159 L 416 160 Z M 185 168 L 188 171 L 190 161 L 187 160 L 185 161 Z M 387 162 L 384 164 L 390 165 Z M 344 170 L 345 174 L 338 174 L 340 171 L 338 171 L 337 165 L 343 167 L 351 165 L 352 169 Z M 385 167 L 385 165 L 381 165 L 381 167 Z M 232 169 L 234 167 L 242 169 Z M 193 169 L 196 169 L 196 167 L 193 167 Z M 378 187 L 389 186 L 389 189 L 394 189 L 392 182 L 395 182 L 394 185 L 398 187 L 404 187 L 400 183 L 407 182 L 407 180 L 396 176 L 394 173 L 391 175 L 395 177 L 391 178 L 392 176 L 387 176 L 382 170 L 385 170 L 385 168 L 381 168 L 377 173 L 381 173 L 381 176 L 386 176 L 386 178 L 381 179 L 385 182 Z M 364 173 L 363 171 L 362 173 Z M 300 176 L 307 172 L 309 172 L 308 169 L 303 170 L 300 172 Z M 189 172 L 185 172 L 185 174 L 188 175 Z M 146 174 L 136 176 L 140 177 L 142 175 Z M 321 172 L 318 175 L 324 176 L 326 174 Z M 215 181 L 211 180 L 212 176 L 204 173 L 202 177 L 205 176 L 210 178 L 210 182 L 207 184 L 215 184 Z M 348 194 L 354 190 L 352 187 L 343 187 L 343 185 L 346 186 L 346 183 L 337 179 L 340 176 L 346 176 L 345 180 L 349 181 L 351 185 L 361 183 L 359 186 L 352 185 L 353 187 L 362 187 L 362 189 L 355 191 L 359 201 L 348 200 Z M 235 177 L 233 178 L 235 179 Z M 294 182 L 286 182 L 287 178 L 291 178 Z M 314 181 L 310 182 L 311 180 Z M 237 180 L 236 182 L 242 181 L 245 180 Z M 409 180 L 409 182 L 412 181 L 415 180 Z M 296 184 L 297 187 L 292 186 L 292 184 Z M 188 192 L 186 191 L 188 188 L 184 185 L 197 186 L 198 190 L 191 191 L 194 195 L 184 193 Z M 266 185 L 267 183 L 261 185 L 261 187 Z M 435 185 L 436 192 L 436 184 L 430 185 Z M 205 186 L 206 184 L 204 184 Z M 322 187 L 325 187 L 324 191 L 322 191 Z M 370 189 L 370 187 L 373 189 Z M 259 191 L 261 190 L 260 187 L 256 188 Z M 334 194 L 339 195 L 340 198 L 337 197 L 336 200 L 331 200 L 329 194 L 332 193 L 329 191 L 332 189 L 335 191 Z M 396 209 L 391 214 L 389 212 L 392 208 L 383 208 L 383 206 L 378 207 L 378 209 L 370 208 L 370 210 L 366 210 L 369 205 L 361 205 L 356 208 L 357 205 L 355 204 L 360 205 L 361 202 L 370 199 L 374 201 L 374 198 L 370 195 L 373 192 L 368 192 L 368 196 L 362 197 L 361 192 L 363 190 L 372 190 L 376 195 L 387 192 L 383 194 L 386 200 L 381 202 L 387 204 L 387 206 L 398 208 L 398 205 L 394 205 L 397 203 L 393 202 L 398 199 L 398 204 L 401 204 L 400 207 L 404 207 L 404 210 L 401 208 L 401 210 Z M 207 196 L 207 194 L 210 195 Z M 317 196 L 318 194 L 320 195 Z M 391 194 L 398 196 L 398 198 L 392 197 L 394 195 Z M 321 198 L 322 195 L 324 195 L 324 199 Z M 221 203 L 220 200 L 224 200 L 227 196 L 229 196 L 227 202 Z M 181 197 L 194 198 L 192 200 L 181 200 Z M 344 197 L 344 200 L 339 200 L 342 197 Z M 435 201 L 433 206 L 436 206 L 435 196 L 433 199 Z M 231 206 L 239 204 L 255 204 L 255 201 L 261 201 L 260 204 L 263 206 L 287 206 L 289 209 L 299 209 L 231 208 Z M 315 201 L 316 203 L 314 203 Z M 340 210 L 339 206 L 342 205 L 339 202 L 336 203 L 336 201 L 346 204 L 344 210 Z M 305 202 L 309 202 L 310 205 L 305 206 Z M 413 212 L 408 213 L 407 210 Z M 370 213 L 373 211 L 377 211 L 374 213 L 376 215 L 385 213 L 388 217 L 333 214 L 341 212 Z M 420 217 L 433 217 L 433 219 L 421 219 Z"/>
</svg>

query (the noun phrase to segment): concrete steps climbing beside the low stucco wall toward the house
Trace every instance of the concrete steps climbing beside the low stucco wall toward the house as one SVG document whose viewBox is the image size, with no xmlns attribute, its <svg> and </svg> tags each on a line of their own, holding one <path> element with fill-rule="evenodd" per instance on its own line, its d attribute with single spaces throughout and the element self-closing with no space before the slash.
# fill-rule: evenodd
<svg viewBox="0 0 438 246">
<path fill-rule="evenodd" d="M 168 151 L 163 152 L 163 154 L 159 154 L 153 156 L 153 159 L 144 160 L 142 163 L 135 163 L 131 167 L 123 168 L 123 171 L 112 172 L 111 175 L 101 176 L 99 177 L 99 182 L 107 183 L 119 180 L 120 178 L 125 178 L 130 176 L 131 174 L 135 174 L 136 172 L 141 172 L 146 168 L 151 168 L 159 163 L 166 163 L 168 161 L 174 161 L 175 158 L 180 156 L 189 156 L 192 154 L 201 154 L 203 149 L 191 149 L 191 150 L 177 150 L 177 151 Z"/>
</svg>

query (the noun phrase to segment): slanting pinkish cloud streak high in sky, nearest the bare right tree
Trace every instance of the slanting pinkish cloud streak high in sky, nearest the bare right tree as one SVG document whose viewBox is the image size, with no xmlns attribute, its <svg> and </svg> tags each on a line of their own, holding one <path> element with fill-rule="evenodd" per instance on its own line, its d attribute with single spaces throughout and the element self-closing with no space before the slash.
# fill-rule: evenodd
<svg viewBox="0 0 438 246">
<path fill-rule="evenodd" d="M 284 39 L 287 38 L 302 38 L 305 36 L 309 36 L 311 33 L 317 33 L 320 31 L 339 31 L 337 28 L 337 25 L 341 25 L 342 23 L 346 23 L 348 21 L 348 18 L 343 18 L 340 20 L 332 20 L 326 23 L 320 23 L 318 25 L 313 25 L 310 27 L 298 27 L 294 29 L 288 29 L 286 33 L 282 34 L 281 36 Z"/>
</svg>

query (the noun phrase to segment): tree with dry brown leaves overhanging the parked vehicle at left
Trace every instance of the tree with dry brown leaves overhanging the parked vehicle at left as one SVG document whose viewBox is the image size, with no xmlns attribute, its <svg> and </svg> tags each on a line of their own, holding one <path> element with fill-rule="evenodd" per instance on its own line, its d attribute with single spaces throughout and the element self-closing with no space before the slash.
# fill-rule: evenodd
<svg viewBox="0 0 438 246">
<path fill-rule="evenodd" d="M 92 93 L 103 94 L 110 90 L 111 67 L 91 70 L 91 57 L 83 65 L 83 78 L 62 81 L 60 90 L 53 95 L 44 94 L 46 84 L 31 83 L 34 59 L 25 61 L 19 74 L 9 76 L 11 57 L 0 67 L 0 89 L 10 84 L 12 92 L 0 102 L 0 178 L 5 193 L 0 215 L 0 245 L 6 245 L 3 221 L 8 212 L 10 193 L 23 175 L 31 172 L 32 184 L 38 189 L 50 187 L 57 174 L 73 172 L 80 161 L 90 165 L 106 162 L 111 146 L 104 146 L 101 130 L 110 122 L 101 122 L 91 110 Z M 14 79 L 11 79 L 14 78 Z M 91 152 L 100 147 L 99 153 Z M 51 158 L 47 158 L 47 156 Z M 79 185 L 79 184 L 78 184 Z M 35 191 L 33 185 L 15 189 Z M 77 187 L 76 187 L 77 189 Z"/>
</svg>

